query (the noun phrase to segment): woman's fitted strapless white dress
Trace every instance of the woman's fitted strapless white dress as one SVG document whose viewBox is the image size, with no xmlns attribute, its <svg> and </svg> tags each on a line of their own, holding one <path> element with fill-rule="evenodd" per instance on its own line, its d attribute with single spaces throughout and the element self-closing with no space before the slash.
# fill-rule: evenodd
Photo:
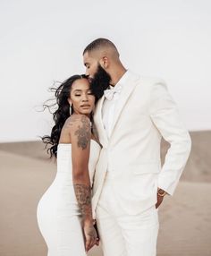
<svg viewBox="0 0 211 256">
<path fill-rule="evenodd" d="M 89 176 L 93 182 L 100 152 L 90 142 Z M 59 144 L 54 182 L 38 202 L 38 226 L 48 248 L 47 256 L 85 256 L 80 209 L 72 183 L 72 144 Z"/>
</svg>

